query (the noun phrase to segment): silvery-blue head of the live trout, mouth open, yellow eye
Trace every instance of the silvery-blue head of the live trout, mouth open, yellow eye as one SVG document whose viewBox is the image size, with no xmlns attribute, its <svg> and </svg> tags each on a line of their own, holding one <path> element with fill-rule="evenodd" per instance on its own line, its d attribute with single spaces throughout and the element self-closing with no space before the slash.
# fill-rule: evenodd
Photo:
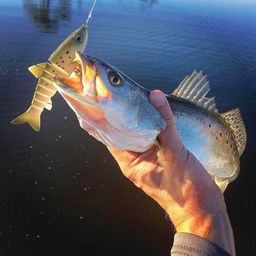
<svg viewBox="0 0 256 256">
<path fill-rule="evenodd" d="M 166 126 L 149 103 L 148 91 L 104 61 L 80 52 L 75 56 L 78 65 L 70 77 L 54 77 L 53 84 L 77 114 L 82 128 L 116 149 L 146 151 Z"/>
</svg>

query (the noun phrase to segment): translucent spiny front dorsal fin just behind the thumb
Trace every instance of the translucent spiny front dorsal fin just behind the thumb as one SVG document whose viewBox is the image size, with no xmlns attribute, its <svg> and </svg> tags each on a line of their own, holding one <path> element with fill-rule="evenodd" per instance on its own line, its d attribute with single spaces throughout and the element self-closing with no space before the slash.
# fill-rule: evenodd
<svg viewBox="0 0 256 256">
<path fill-rule="evenodd" d="M 209 81 L 207 76 L 202 75 L 202 70 L 197 73 L 195 70 L 190 76 L 186 76 L 179 86 L 171 95 L 195 102 L 203 108 L 217 113 L 215 97 L 206 98 L 205 95 L 210 91 Z"/>
</svg>

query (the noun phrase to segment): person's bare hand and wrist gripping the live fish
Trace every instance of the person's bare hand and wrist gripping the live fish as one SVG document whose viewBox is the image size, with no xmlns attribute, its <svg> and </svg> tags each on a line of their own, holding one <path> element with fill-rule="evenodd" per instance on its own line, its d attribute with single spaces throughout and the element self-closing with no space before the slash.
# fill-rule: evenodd
<svg viewBox="0 0 256 256">
<path fill-rule="evenodd" d="M 206 238 L 235 255 L 233 231 L 221 190 L 183 145 L 165 95 L 153 91 L 149 99 L 167 123 L 158 135 L 164 163 L 159 164 L 155 148 L 135 153 L 108 147 L 110 153 L 123 174 L 165 209 L 178 233 Z"/>
</svg>

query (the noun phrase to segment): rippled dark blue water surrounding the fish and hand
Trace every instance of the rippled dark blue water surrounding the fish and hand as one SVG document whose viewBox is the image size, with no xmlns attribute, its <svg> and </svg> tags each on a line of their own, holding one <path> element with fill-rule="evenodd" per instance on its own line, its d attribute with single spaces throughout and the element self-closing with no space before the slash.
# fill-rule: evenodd
<svg viewBox="0 0 256 256">
<path fill-rule="evenodd" d="M 33 98 L 27 68 L 47 62 L 92 2 L 0 2 L 1 255 L 168 255 L 173 244 L 165 212 L 123 177 L 59 94 L 38 133 L 10 124 Z M 237 255 L 253 255 L 255 239 L 255 10 L 254 1 L 98 0 L 85 50 L 167 94 L 202 69 L 219 111 L 239 107 L 248 140 L 225 191 Z"/>
</svg>

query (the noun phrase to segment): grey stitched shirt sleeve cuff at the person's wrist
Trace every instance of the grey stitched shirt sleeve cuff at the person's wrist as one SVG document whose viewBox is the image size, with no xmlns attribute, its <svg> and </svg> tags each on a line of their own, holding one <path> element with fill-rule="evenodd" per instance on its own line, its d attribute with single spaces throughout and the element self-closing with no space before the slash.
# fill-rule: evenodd
<svg viewBox="0 0 256 256">
<path fill-rule="evenodd" d="M 189 233 L 174 235 L 171 256 L 232 256 L 205 238 Z"/>
</svg>

